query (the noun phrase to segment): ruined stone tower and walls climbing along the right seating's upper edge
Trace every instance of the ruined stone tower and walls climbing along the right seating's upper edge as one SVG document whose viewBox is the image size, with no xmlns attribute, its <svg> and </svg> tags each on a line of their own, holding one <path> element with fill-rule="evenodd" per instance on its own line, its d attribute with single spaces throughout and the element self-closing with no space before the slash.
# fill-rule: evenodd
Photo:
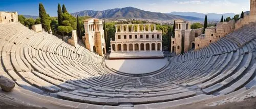
<svg viewBox="0 0 256 109">
<path fill-rule="evenodd" d="M 189 24 L 184 20 L 176 20 L 176 30 L 175 30 L 175 38 L 172 38 L 172 48 L 171 52 L 175 52 L 176 54 L 180 54 L 182 49 L 184 48 L 184 52 L 189 51 L 195 47 L 195 50 L 199 50 L 201 48 L 207 47 L 210 43 L 216 42 L 221 37 L 226 36 L 227 34 L 238 30 L 244 25 L 248 25 L 250 22 L 256 21 L 256 1 L 250 1 L 250 15 L 244 14 L 244 18 L 240 18 L 238 21 L 230 20 L 228 22 L 218 23 L 216 27 L 208 27 L 205 29 L 205 34 L 202 34 L 203 29 L 199 29 L 195 33 L 189 31 L 189 28 L 181 28 L 186 24 Z M 195 36 L 194 36 L 195 34 Z M 184 47 L 182 46 L 182 37 L 184 37 Z"/>
</svg>

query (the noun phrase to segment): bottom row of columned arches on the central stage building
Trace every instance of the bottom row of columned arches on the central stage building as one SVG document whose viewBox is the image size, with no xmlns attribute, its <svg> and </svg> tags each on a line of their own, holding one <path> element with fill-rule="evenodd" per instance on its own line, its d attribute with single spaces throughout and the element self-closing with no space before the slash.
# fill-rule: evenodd
<svg viewBox="0 0 256 109">
<path fill-rule="evenodd" d="M 115 43 L 111 45 L 112 52 L 135 52 L 135 51 L 162 51 L 162 43 Z"/>
</svg>

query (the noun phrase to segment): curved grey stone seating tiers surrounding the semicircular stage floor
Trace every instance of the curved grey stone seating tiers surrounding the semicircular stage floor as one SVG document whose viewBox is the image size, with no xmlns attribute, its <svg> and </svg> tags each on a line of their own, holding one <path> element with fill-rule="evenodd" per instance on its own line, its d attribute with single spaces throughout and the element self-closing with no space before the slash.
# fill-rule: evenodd
<svg viewBox="0 0 256 109">
<path fill-rule="evenodd" d="M 102 57 L 82 45 L 75 48 L 20 23 L 1 24 L 0 75 L 38 94 L 97 105 L 198 101 L 256 84 L 255 29 L 249 24 L 206 48 L 172 57 L 160 73 L 129 77 L 106 69 Z"/>
</svg>

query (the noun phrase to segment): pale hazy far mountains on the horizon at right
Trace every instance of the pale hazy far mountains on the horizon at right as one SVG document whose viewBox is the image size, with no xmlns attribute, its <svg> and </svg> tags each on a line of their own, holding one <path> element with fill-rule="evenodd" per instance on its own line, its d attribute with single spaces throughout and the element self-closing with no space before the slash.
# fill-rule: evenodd
<svg viewBox="0 0 256 109">
<path fill-rule="evenodd" d="M 166 14 L 187 15 L 187 16 L 199 17 L 199 18 L 204 18 L 205 17 L 205 14 L 197 13 L 197 12 L 171 12 L 171 13 L 166 13 Z M 224 13 L 224 14 L 207 13 L 207 18 L 211 19 L 211 20 L 220 20 L 222 15 L 223 15 L 224 18 L 226 18 L 226 17 L 231 17 L 232 18 L 236 14 L 235 13 Z"/>
</svg>

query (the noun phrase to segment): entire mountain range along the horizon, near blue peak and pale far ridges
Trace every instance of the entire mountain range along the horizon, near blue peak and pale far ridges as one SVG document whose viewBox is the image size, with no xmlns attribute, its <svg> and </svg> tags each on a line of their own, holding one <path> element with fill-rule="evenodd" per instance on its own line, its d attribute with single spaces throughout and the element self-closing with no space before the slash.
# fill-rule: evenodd
<svg viewBox="0 0 256 109">
<path fill-rule="evenodd" d="M 245 14 L 249 14 L 249 11 L 246 11 Z M 159 13 L 159 12 L 150 12 L 137 9 L 134 7 L 125 7 L 125 8 L 115 8 L 108 9 L 103 11 L 94 11 L 94 10 L 84 10 L 75 13 L 71 13 L 73 16 L 90 16 L 93 18 L 101 19 L 128 19 L 128 18 L 141 18 L 141 19 L 158 19 L 158 20 L 173 20 L 173 19 L 185 19 L 193 21 L 203 21 L 205 14 L 197 12 L 171 12 L 171 13 Z M 207 17 L 209 20 L 220 20 L 221 15 L 224 18 L 233 17 L 235 13 L 208 13 Z M 26 18 L 38 18 L 38 16 L 24 15 Z"/>
</svg>

